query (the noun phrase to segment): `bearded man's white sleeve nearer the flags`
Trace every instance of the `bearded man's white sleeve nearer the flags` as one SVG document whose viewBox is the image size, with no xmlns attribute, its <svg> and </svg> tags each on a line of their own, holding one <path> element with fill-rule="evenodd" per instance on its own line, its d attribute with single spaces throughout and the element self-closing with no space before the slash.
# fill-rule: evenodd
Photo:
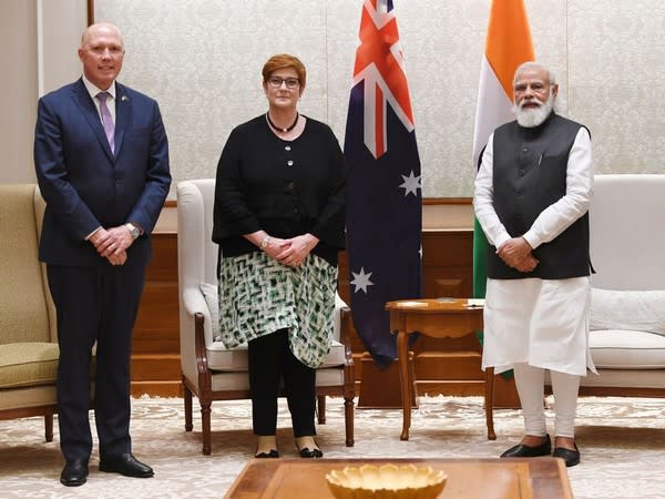
<svg viewBox="0 0 665 499">
<path fill-rule="evenodd" d="M 492 133 L 488 140 L 488 145 L 482 154 L 480 169 L 475 175 L 473 210 L 489 243 L 499 247 L 510 240 L 510 234 L 494 211 L 494 186 L 492 181 L 493 162 L 494 134 Z"/>
</svg>

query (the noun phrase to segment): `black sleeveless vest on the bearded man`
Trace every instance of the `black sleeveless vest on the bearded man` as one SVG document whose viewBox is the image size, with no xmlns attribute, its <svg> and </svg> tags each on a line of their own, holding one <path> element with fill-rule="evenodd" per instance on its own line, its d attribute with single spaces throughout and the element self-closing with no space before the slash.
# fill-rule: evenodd
<svg viewBox="0 0 665 499">
<path fill-rule="evenodd" d="M 516 121 L 494 131 L 494 211 L 511 237 L 523 235 L 538 215 L 565 195 L 566 169 L 580 123 L 551 113 L 539 126 Z M 534 249 L 540 261 L 533 272 L 509 267 L 488 249 L 488 277 L 563 279 L 590 274 L 589 213 L 550 243 Z"/>
</svg>

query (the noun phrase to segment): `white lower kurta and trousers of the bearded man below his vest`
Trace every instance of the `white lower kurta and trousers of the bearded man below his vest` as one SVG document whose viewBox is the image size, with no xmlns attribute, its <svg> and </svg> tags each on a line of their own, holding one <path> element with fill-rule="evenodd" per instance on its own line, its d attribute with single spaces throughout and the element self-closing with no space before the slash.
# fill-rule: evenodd
<svg viewBox="0 0 665 499">
<path fill-rule="evenodd" d="M 483 369 L 514 369 L 526 435 L 544 436 L 545 369 L 554 394 L 554 435 L 574 438 L 580 376 L 596 373 L 589 350 L 589 277 L 488 279 Z"/>
</svg>

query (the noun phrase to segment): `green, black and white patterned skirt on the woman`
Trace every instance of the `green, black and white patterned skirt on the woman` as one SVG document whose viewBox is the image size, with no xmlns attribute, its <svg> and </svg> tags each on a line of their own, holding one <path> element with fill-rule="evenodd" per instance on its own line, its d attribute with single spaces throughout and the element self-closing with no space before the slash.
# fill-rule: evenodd
<svg viewBox="0 0 665 499">
<path fill-rule="evenodd" d="M 265 253 L 224 257 L 219 268 L 219 330 L 234 348 L 287 328 L 293 354 L 317 368 L 330 350 L 337 267 L 310 254 L 288 267 Z"/>
</svg>

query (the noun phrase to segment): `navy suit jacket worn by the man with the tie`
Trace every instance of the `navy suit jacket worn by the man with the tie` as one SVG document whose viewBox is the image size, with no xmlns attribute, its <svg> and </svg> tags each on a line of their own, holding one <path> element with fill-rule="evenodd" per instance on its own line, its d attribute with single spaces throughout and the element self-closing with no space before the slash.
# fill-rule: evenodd
<svg viewBox="0 0 665 499">
<path fill-rule="evenodd" d="M 66 266 L 106 261 L 85 237 L 96 227 L 140 225 L 146 236 L 127 258 L 147 261 L 152 232 L 171 185 L 168 143 L 157 103 L 116 82 L 115 153 L 83 80 L 39 101 L 34 164 L 47 202 L 40 259 Z"/>
</svg>

